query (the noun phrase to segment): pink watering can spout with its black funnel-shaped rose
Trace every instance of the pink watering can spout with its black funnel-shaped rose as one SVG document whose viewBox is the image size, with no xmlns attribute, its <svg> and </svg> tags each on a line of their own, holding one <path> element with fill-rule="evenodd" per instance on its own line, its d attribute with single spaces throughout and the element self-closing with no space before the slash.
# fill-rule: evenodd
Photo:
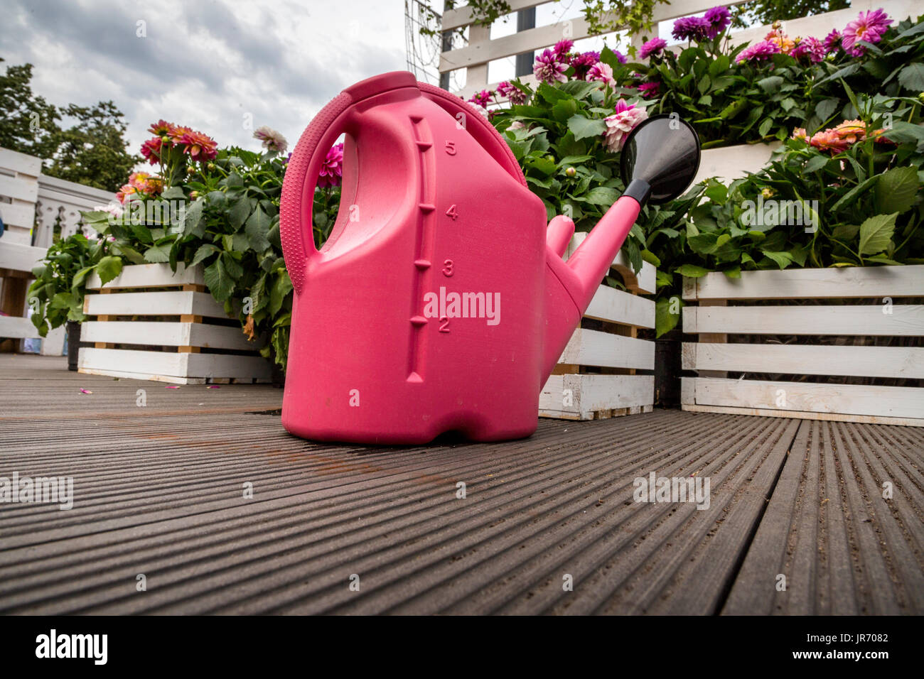
<svg viewBox="0 0 924 679">
<path fill-rule="evenodd" d="M 620 159 L 626 191 L 567 262 L 562 255 L 574 233 L 574 223 L 565 217 L 552 220 L 546 234 L 544 374 L 550 374 L 562 356 L 642 205 L 674 200 L 687 188 L 698 169 L 699 137 L 693 128 L 675 115 L 656 115 L 641 123 L 626 139 Z"/>
</svg>

